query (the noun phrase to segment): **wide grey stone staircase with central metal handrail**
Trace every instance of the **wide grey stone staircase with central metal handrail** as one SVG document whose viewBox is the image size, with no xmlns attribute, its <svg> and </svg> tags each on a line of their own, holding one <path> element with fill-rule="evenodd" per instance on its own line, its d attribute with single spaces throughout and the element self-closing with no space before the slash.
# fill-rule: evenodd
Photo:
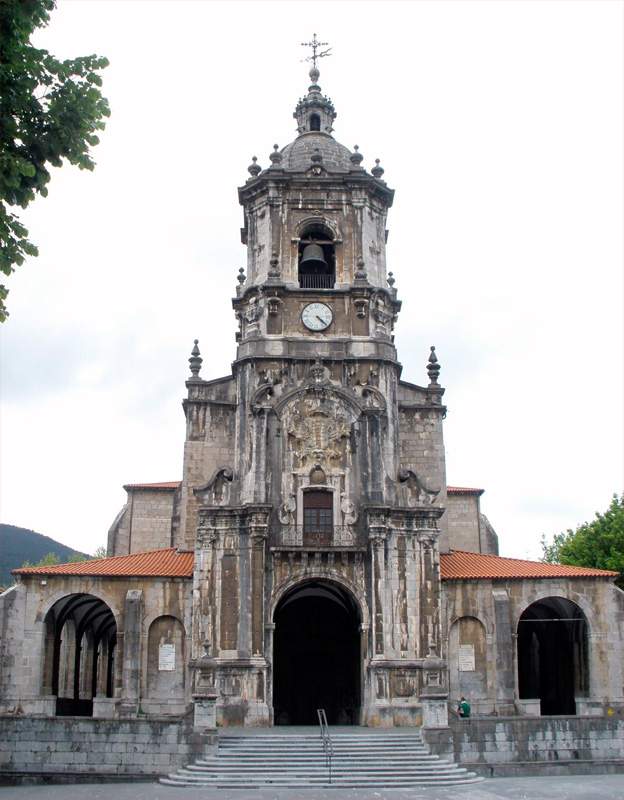
<svg viewBox="0 0 624 800">
<path fill-rule="evenodd" d="M 429 754 L 420 733 L 332 733 L 331 783 L 318 733 L 221 735 L 214 758 L 161 778 L 168 786 L 456 786 L 483 780 Z"/>
</svg>

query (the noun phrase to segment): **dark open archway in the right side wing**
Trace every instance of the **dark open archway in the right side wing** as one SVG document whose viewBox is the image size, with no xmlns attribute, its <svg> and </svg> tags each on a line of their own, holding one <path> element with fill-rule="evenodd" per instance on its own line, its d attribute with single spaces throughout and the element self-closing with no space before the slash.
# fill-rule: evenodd
<svg viewBox="0 0 624 800">
<path fill-rule="evenodd" d="M 518 623 L 521 699 L 540 699 L 542 714 L 575 714 L 575 697 L 589 688 L 587 621 L 563 597 L 547 597 L 524 610 Z"/>
</svg>

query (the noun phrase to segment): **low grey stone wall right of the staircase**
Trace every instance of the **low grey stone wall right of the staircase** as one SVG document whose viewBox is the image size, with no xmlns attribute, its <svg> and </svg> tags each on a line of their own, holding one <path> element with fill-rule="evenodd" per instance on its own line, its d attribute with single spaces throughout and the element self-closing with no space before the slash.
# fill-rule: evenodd
<svg viewBox="0 0 624 800">
<path fill-rule="evenodd" d="M 425 730 L 431 752 L 482 775 L 624 770 L 624 717 L 499 717 L 451 720 Z M 593 763 L 592 763 L 593 762 Z"/>
</svg>

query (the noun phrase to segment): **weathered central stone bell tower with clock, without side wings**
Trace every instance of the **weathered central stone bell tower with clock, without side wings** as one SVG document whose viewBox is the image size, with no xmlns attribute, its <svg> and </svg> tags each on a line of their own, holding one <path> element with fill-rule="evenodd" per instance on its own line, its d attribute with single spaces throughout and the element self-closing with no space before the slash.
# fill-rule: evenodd
<svg viewBox="0 0 624 800">
<path fill-rule="evenodd" d="M 310 78 L 297 138 L 239 189 L 232 376 L 202 380 L 190 359 L 194 687 L 222 724 L 311 724 L 318 707 L 330 724 L 443 722 L 439 366 L 432 348 L 429 385 L 400 380 L 394 193 L 333 138 Z"/>
</svg>

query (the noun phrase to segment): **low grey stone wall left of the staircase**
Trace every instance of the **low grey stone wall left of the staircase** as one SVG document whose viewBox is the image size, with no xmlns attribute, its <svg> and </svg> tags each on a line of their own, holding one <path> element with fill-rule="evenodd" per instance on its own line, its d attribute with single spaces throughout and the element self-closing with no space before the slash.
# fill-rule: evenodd
<svg viewBox="0 0 624 800">
<path fill-rule="evenodd" d="M 194 732 L 190 720 L 0 716 L 0 783 L 20 773 L 71 782 L 164 775 L 210 756 L 215 746 L 216 735 Z"/>
</svg>

